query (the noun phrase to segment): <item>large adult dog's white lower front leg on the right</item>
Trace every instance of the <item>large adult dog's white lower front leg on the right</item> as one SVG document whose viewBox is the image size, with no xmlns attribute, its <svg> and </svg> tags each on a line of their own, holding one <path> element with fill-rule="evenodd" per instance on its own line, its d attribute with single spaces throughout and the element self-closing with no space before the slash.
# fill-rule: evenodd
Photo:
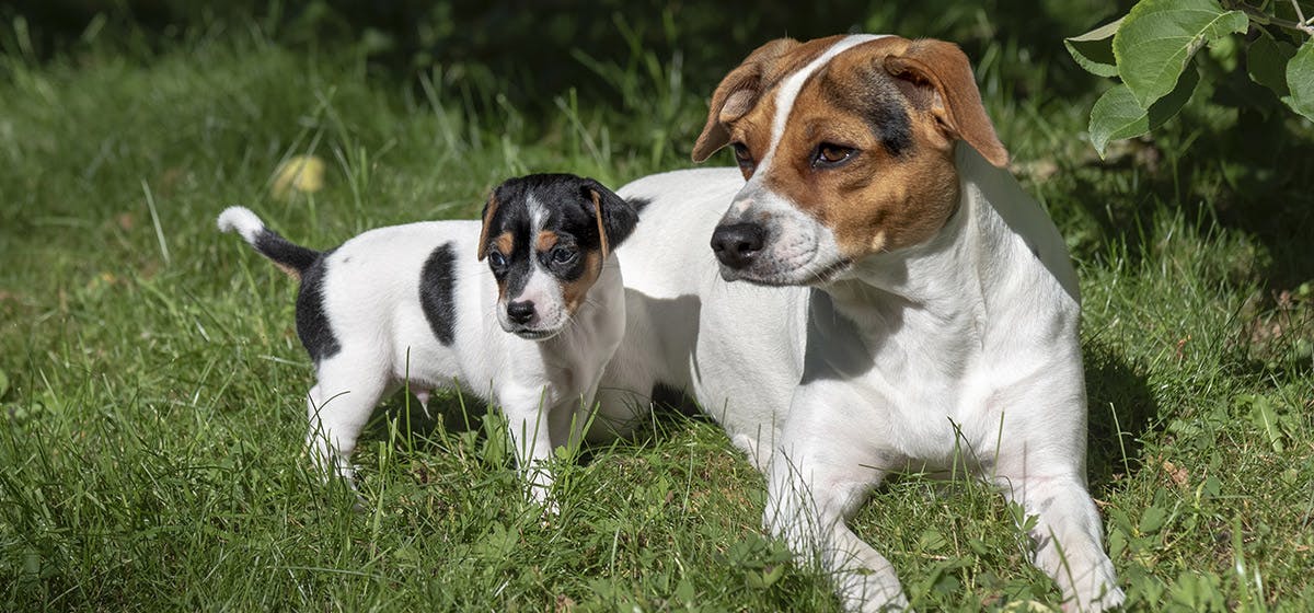
<svg viewBox="0 0 1314 613">
<path fill-rule="evenodd" d="M 1100 513 L 1079 471 L 996 475 L 1004 495 L 1035 516 L 1033 563 L 1063 591 L 1063 610 L 1104 610 L 1122 604 L 1113 562 L 1101 545 Z"/>
</svg>

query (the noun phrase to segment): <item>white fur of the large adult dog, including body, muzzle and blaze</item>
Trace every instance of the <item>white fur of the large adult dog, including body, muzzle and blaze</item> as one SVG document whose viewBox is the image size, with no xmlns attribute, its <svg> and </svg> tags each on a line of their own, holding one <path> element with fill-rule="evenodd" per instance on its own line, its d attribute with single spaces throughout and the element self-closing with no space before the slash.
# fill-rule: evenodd
<svg viewBox="0 0 1314 613">
<path fill-rule="evenodd" d="M 778 122 L 802 113 L 781 110 L 800 81 L 775 92 Z M 880 248 L 887 236 L 876 232 L 870 251 L 846 259 L 832 232 L 848 228 L 808 214 L 781 190 L 808 192 L 773 179 L 782 131 L 771 130 L 748 181 L 720 168 L 620 189 L 649 203 L 619 249 L 628 329 L 603 389 L 668 383 L 694 395 L 767 475 L 765 525 L 832 574 L 850 610 L 908 605 L 888 560 L 845 525 L 903 470 L 966 469 L 995 483 L 1037 517 L 1034 563 L 1060 585 L 1064 608 L 1120 604 L 1085 490 L 1077 282 L 1053 222 L 1008 171 L 958 143 L 949 154 L 958 197 L 943 223 L 897 248 Z M 754 245 L 742 269 L 719 265 L 702 243 L 745 223 L 770 224 L 774 243 Z"/>
</svg>

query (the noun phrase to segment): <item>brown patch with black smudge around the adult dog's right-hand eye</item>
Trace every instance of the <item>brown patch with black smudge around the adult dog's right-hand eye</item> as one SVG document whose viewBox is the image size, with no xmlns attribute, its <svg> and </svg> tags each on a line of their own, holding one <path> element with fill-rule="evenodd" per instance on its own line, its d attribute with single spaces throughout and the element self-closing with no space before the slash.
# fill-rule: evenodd
<svg viewBox="0 0 1314 613">
<path fill-rule="evenodd" d="M 958 203 L 953 142 L 883 68 L 901 47 L 872 41 L 813 74 L 763 177 L 829 227 L 849 260 L 929 239 Z"/>
</svg>

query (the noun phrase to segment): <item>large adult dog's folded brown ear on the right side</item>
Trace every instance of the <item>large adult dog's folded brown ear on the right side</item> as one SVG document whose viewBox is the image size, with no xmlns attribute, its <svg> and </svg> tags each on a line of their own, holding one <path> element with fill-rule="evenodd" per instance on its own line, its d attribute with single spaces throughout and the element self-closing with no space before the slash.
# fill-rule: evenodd
<svg viewBox="0 0 1314 613">
<path fill-rule="evenodd" d="M 950 140 L 967 142 L 999 168 L 1008 165 L 1008 150 L 986 116 L 972 67 L 958 45 L 913 41 L 903 54 L 887 56 L 884 66 L 913 106 L 930 112 Z"/>
</svg>

